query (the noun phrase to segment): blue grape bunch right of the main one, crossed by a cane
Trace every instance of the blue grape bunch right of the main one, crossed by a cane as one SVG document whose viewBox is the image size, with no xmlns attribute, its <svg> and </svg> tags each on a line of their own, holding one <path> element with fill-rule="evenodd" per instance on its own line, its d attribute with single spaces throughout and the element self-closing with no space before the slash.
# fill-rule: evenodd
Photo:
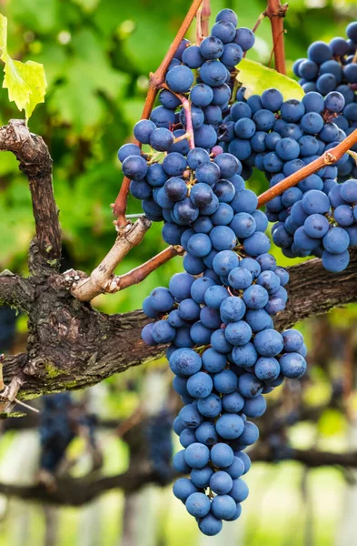
<svg viewBox="0 0 357 546">
<path fill-rule="evenodd" d="M 235 136 L 229 144 L 223 142 L 223 147 L 234 157 L 263 170 L 273 187 L 346 136 L 332 121 L 326 121 L 342 111 L 343 106 L 344 98 L 337 91 L 324 99 L 311 91 L 301 102 L 283 102 L 277 89 L 267 89 L 261 97 L 253 96 L 232 106 L 225 135 L 233 126 Z M 255 113 L 254 108 L 258 108 Z M 265 126 L 259 125 L 262 120 Z M 348 159 L 344 154 L 336 166 L 322 167 L 267 203 L 267 217 L 274 222 L 273 242 L 283 248 L 286 257 L 313 255 L 322 258 L 324 268 L 332 272 L 347 267 L 348 247 L 357 242 L 357 223 L 352 210 L 355 202 L 351 196 L 342 195 L 344 188 L 352 187 L 354 182 L 339 185 L 335 178 L 338 167 L 343 167 Z"/>
</svg>

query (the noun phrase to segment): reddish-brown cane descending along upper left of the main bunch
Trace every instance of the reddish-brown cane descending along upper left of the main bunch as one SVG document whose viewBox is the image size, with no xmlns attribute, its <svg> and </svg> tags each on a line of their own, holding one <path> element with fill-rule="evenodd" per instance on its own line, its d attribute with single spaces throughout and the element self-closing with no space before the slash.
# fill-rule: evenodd
<svg viewBox="0 0 357 546">
<path fill-rule="evenodd" d="M 148 119 L 150 117 L 150 114 L 153 110 L 157 92 L 160 86 L 164 83 L 164 76 L 166 74 L 167 68 L 170 65 L 171 61 L 173 60 L 177 47 L 181 44 L 184 35 L 186 34 L 191 23 L 193 22 L 193 18 L 196 15 L 202 3 L 203 3 L 203 0 L 193 0 L 193 3 L 190 9 L 188 10 L 187 15 L 183 19 L 183 24 L 180 26 L 177 34 L 174 37 L 174 42 L 170 45 L 166 55 L 164 56 L 163 62 L 158 67 L 158 69 L 154 72 L 154 74 L 150 75 L 149 89 L 145 99 L 145 104 L 144 104 L 141 119 Z M 137 142 L 136 139 L 134 139 L 134 143 L 140 146 L 140 144 Z M 125 227 L 126 224 L 128 223 L 127 219 L 125 218 L 125 210 L 126 210 L 127 201 L 128 201 L 129 186 L 130 186 L 130 179 L 128 177 L 124 177 L 122 187 L 120 188 L 118 197 L 116 197 L 114 206 L 113 206 L 113 213 L 117 217 L 116 219 L 117 227 Z"/>
</svg>

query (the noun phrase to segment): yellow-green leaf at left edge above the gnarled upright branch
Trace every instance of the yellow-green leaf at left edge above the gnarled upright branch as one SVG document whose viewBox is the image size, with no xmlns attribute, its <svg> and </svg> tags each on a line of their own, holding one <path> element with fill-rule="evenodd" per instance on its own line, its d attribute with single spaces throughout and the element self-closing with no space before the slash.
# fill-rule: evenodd
<svg viewBox="0 0 357 546">
<path fill-rule="evenodd" d="M 14 101 L 18 109 L 25 110 L 26 119 L 34 112 L 35 106 L 45 102 L 45 68 L 34 61 L 22 63 L 7 53 L 7 19 L 0 14 L 1 60 L 5 63 L 3 87 L 8 90 L 9 100 Z"/>
</svg>

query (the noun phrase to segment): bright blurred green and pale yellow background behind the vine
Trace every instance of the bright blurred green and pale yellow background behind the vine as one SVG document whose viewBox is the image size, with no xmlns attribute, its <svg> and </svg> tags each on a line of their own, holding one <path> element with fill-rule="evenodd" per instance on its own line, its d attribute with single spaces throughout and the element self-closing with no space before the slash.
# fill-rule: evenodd
<svg viewBox="0 0 357 546">
<path fill-rule="evenodd" d="M 118 147 L 130 140 L 139 119 L 148 86 L 148 74 L 160 64 L 173 41 L 190 2 L 188 0 L 2 0 L 0 11 L 8 17 L 9 51 L 22 60 L 30 58 L 45 65 L 48 91 L 45 105 L 37 106 L 30 128 L 43 136 L 54 158 L 55 197 L 61 210 L 64 234 L 64 265 L 89 272 L 114 241 L 114 202 L 122 175 L 116 158 Z M 253 27 L 263 11 L 263 0 L 238 2 L 212 0 L 213 16 L 223 7 L 233 8 L 239 25 Z M 330 40 L 344 35 L 345 26 L 357 18 L 355 0 L 292 0 L 285 20 L 285 44 L 289 74 L 293 60 L 305 56 L 316 39 Z M 194 28 L 188 33 L 194 40 Z M 248 57 L 269 63 L 272 50 L 268 21 L 263 21 Z M 18 117 L 0 90 L 0 123 Z M 249 186 L 264 189 L 262 177 L 253 177 Z M 131 199 L 128 213 L 140 212 L 140 203 Z M 31 201 L 25 178 L 15 158 L 0 158 L 0 270 L 26 272 L 26 253 L 34 233 Z M 117 269 L 123 273 L 151 258 L 164 243 L 160 226 L 154 226 L 140 248 L 134 248 Z M 291 265 L 274 249 L 280 265 Z M 108 313 L 140 308 L 144 297 L 158 285 L 167 285 L 172 274 L 181 270 L 175 258 L 155 271 L 140 286 L 115 296 L 97 298 L 96 307 Z M 349 332 L 355 306 L 330 315 L 332 328 Z M 300 325 L 311 345 L 318 321 Z M 18 321 L 16 348 L 25 340 L 25 317 Z M 330 339 L 322 339 L 329 343 Z M 342 343 L 343 345 L 343 343 Z M 336 346 L 337 347 L 337 346 Z M 342 380 L 345 361 L 326 356 L 324 364 L 317 351 L 309 359 L 310 379 L 304 384 L 304 402 L 311 407 L 329 399 L 332 379 Z M 354 354 L 354 353 L 353 353 Z M 328 357 L 328 358 L 327 358 Z M 157 364 L 155 364 L 157 366 Z M 164 362 L 159 363 L 162 368 Z M 128 392 L 127 381 L 137 381 L 145 369 L 131 369 L 121 377 L 105 381 L 91 390 L 95 410 L 101 417 L 129 417 L 140 403 L 140 392 Z M 140 383 L 140 380 L 139 380 Z M 139 389 L 140 390 L 140 389 Z M 81 395 L 77 395 L 79 398 Z M 289 402 L 292 391 L 284 393 Z M 287 400 L 286 400 L 287 397 Z M 326 450 L 356 447 L 353 425 L 353 396 L 349 419 L 345 408 L 327 408 L 317 422 L 302 422 L 289 430 L 292 445 L 301 449 L 317 446 Z M 353 440 L 354 438 L 354 440 Z M 121 471 L 127 465 L 123 442 L 113 433 L 100 434 L 104 450 L 104 473 Z M 74 456 L 82 450 L 80 440 L 71 447 Z M 1 480 L 35 480 L 38 439 L 34 430 L 6 432 L 0 440 Z M 79 465 L 85 473 L 86 463 Z M 135 544 L 141 546 L 190 546 L 232 544 L 234 546 L 338 546 L 357 545 L 356 475 L 341 470 L 305 470 L 298 463 L 254 464 L 247 477 L 251 495 L 244 503 L 243 517 L 227 525 L 220 539 L 198 537 L 193 518 L 174 499 L 170 488 L 147 488 L 139 493 L 135 506 L 140 520 Z M 140 508 L 141 507 L 141 508 Z M 123 532 L 124 496 L 105 494 L 83 509 L 60 509 L 59 545 L 104 546 L 120 544 Z M 53 515 L 48 507 L 0 498 L 0 545 L 45 543 L 46 527 Z M 350 519 L 349 519 L 350 514 Z M 349 529 L 354 532 L 350 532 Z M 124 542 L 123 542 L 124 543 Z"/>
</svg>

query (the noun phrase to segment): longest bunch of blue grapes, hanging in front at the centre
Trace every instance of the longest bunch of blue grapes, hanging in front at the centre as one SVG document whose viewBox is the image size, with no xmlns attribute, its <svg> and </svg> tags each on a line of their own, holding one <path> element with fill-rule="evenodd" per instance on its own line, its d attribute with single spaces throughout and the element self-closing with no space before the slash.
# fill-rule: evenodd
<svg viewBox="0 0 357 546">
<path fill-rule="evenodd" d="M 297 140 L 292 133 L 295 108 L 300 112 L 303 106 L 283 104 L 281 94 L 272 90 L 269 108 L 256 97 L 231 108 L 234 66 L 254 41 L 252 31 L 236 25 L 234 12 L 224 9 L 201 45 L 183 40 L 168 68 L 169 90 L 161 92 L 161 106 L 134 126 L 134 136 L 149 151 L 126 144 L 118 154 L 146 217 L 164 219 L 164 240 L 185 250 L 184 272 L 144 300 L 144 313 L 154 321 L 144 327 L 142 338 L 148 345 L 170 344 L 166 355 L 184 404 L 174 421 L 183 446 L 174 456 L 174 469 L 190 474 L 175 482 L 174 495 L 206 535 L 217 534 L 223 520 L 241 514 L 248 495 L 241 477 L 251 464 L 244 450 L 258 439 L 250 419 L 263 415 L 263 394 L 306 370 L 302 335 L 274 329 L 273 317 L 287 301 L 289 275 L 269 254 L 268 217 L 245 187 L 252 148 L 242 156 L 254 133 L 265 139 L 279 121 L 279 130 L 287 126 L 285 136 Z M 187 109 L 177 94 L 191 105 L 195 147 L 192 141 L 189 146 Z M 278 120 L 280 110 L 283 119 Z M 238 124 L 243 125 L 239 135 L 234 133 L 238 118 L 245 118 Z M 328 125 L 324 118 L 322 125 Z M 274 150 L 272 142 L 269 149 Z"/>
</svg>

